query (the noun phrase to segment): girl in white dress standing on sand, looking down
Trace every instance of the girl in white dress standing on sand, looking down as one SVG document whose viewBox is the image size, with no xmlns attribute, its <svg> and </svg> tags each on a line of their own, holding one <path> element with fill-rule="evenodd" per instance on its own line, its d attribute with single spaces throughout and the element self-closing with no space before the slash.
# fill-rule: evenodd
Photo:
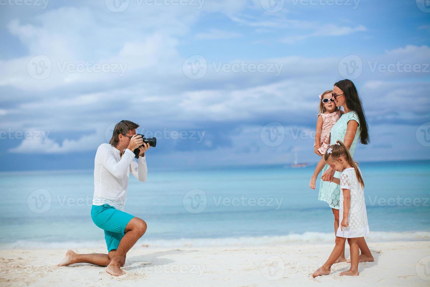
<svg viewBox="0 0 430 287">
<path fill-rule="evenodd" d="M 342 189 L 339 202 L 340 225 L 336 232 L 336 245 L 332 254 L 326 263 L 313 273 L 313 277 L 330 274 L 330 268 L 341 255 L 347 239 L 350 245 L 351 267 L 348 271 L 341 272 L 340 275 L 358 276 L 359 248 L 357 238 L 364 237 L 370 232 L 361 171 L 341 141 L 337 141 L 335 145 L 331 145 L 327 149 L 324 159 L 332 169 L 341 173 L 340 179 L 333 178 L 333 182 L 341 185 Z M 365 248 L 362 249 L 369 250 L 369 247 L 366 244 Z"/>
</svg>

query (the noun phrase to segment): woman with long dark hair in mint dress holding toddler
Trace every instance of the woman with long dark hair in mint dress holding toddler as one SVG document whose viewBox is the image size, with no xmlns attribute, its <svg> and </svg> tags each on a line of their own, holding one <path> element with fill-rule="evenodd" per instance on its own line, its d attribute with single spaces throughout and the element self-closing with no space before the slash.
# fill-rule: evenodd
<svg viewBox="0 0 430 287">
<path fill-rule="evenodd" d="M 344 142 L 351 156 L 353 156 L 358 141 L 363 145 L 369 144 L 369 130 L 361 99 L 358 96 L 354 83 L 350 80 L 340 80 L 335 83 L 332 96 L 336 106 L 344 108 L 344 114 L 342 114 L 330 131 L 330 144 L 334 145 L 338 140 Z M 332 182 L 333 176 L 339 177 L 339 173 L 326 164 L 322 169 L 318 200 L 326 201 L 332 208 L 333 215 L 335 216 L 336 232 L 339 227 L 339 198 L 341 189 L 340 185 Z M 372 254 L 364 238 L 358 240 L 358 245 L 361 250 L 360 262 L 373 261 Z M 346 261 L 345 250 L 343 250 L 337 262 L 344 261 Z"/>
</svg>

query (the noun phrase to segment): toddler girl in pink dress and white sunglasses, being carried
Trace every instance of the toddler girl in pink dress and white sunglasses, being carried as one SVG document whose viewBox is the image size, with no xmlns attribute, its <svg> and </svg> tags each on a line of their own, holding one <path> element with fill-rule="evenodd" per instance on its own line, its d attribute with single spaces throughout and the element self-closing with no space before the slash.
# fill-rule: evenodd
<svg viewBox="0 0 430 287">
<path fill-rule="evenodd" d="M 319 114 L 316 120 L 315 144 L 313 145 L 315 154 L 322 157 L 326 154 L 330 146 L 330 130 L 341 117 L 342 111 L 336 107 L 332 98 L 332 90 L 325 91 L 319 95 Z M 321 158 L 316 165 L 315 171 L 310 178 L 309 187 L 315 189 L 316 178 L 326 165 L 326 161 Z"/>
</svg>

